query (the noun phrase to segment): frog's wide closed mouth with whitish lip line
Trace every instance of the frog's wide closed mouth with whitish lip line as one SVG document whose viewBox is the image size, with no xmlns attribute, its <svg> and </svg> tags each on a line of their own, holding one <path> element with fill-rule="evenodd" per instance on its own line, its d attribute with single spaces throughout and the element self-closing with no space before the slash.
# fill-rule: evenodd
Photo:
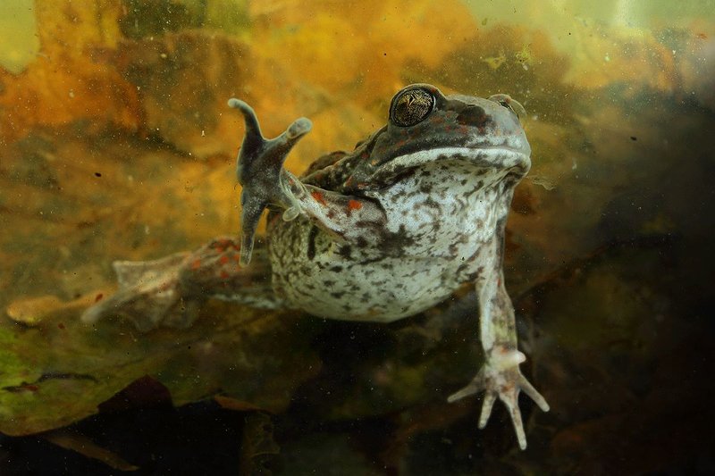
<svg viewBox="0 0 715 476">
<path fill-rule="evenodd" d="M 482 147 L 438 147 L 418 150 L 409 154 L 398 155 L 383 163 L 366 180 L 361 180 L 365 187 L 382 188 L 395 182 L 397 177 L 440 163 L 463 163 L 475 171 L 491 171 L 500 177 L 512 176 L 515 180 L 524 178 L 531 168 L 529 154 L 507 146 Z"/>
</svg>

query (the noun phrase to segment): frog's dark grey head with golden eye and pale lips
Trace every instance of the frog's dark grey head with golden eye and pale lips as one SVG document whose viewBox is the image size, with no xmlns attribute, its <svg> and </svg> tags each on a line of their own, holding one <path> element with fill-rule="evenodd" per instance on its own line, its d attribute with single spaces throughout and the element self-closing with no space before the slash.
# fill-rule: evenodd
<svg viewBox="0 0 715 476">
<path fill-rule="evenodd" d="M 397 93 L 383 129 L 359 145 L 359 159 L 345 188 L 388 187 L 428 164 L 459 161 L 490 170 L 494 180 L 516 183 L 529 171 L 531 148 L 517 113 L 521 104 L 507 95 L 489 99 L 451 95 L 431 85 L 413 84 Z"/>
</svg>

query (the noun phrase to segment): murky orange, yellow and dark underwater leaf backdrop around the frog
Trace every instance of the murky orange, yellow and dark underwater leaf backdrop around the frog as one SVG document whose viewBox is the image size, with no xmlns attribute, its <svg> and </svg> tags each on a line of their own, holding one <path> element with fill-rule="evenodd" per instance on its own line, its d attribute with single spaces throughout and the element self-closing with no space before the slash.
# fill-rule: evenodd
<svg viewBox="0 0 715 476">
<path fill-rule="evenodd" d="M 96 328 L 114 260 L 239 230 L 229 97 L 299 173 L 414 82 L 523 104 L 520 451 L 470 287 L 389 325 L 210 301 Z M 711 474 L 715 2 L 4 0 L 0 474 Z"/>
</svg>

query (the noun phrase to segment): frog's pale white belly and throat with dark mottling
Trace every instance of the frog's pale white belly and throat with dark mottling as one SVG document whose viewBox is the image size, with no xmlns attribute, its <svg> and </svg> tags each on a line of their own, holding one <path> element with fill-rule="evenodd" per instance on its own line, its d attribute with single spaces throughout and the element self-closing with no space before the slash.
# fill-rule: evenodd
<svg viewBox="0 0 715 476">
<path fill-rule="evenodd" d="M 484 254 L 494 247 L 485 245 L 511 194 L 489 173 L 497 172 L 442 161 L 366 194 L 387 214 L 375 231 L 389 235 L 383 246 L 336 242 L 305 218 L 279 224 L 271 238 L 275 292 L 308 313 L 354 321 L 391 322 L 441 302 L 491 259 Z"/>
</svg>

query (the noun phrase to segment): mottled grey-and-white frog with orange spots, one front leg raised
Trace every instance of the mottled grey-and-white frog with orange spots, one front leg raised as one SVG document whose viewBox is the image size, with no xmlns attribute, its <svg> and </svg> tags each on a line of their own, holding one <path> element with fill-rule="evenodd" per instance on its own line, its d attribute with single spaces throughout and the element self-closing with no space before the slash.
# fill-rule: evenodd
<svg viewBox="0 0 715 476">
<path fill-rule="evenodd" d="M 531 167 L 531 147 L 510 96 L 444 95 L 409 85 L 391 99 L 387 123 L 352 152 L 333 152 L 297 176 L 284 167 L 312 129 L 305 117 L 278 137 L 257 114 L 228 105 L 245 122 L 236 174 L 240 237 L 150 262 L 115 262 L 119 289 L 82 314 L 130 317 L 140 330 L 185 327 L 213 297 L 262 309 L 298 309 L 351 322 L 395 322 L 475 288 L 484 363 L 448 402 L 484 393 L 484 429 L 497 398 L 526 449 L 523 391 L 550 407 L 519 369 L 514 306 L 505 287 L 505 227 L 514 189 Z M 267 213 L 265 238 L 257 227 Z M 258 243 L 259 246 L 255 244 Z"/>
</svg>

